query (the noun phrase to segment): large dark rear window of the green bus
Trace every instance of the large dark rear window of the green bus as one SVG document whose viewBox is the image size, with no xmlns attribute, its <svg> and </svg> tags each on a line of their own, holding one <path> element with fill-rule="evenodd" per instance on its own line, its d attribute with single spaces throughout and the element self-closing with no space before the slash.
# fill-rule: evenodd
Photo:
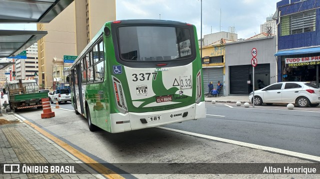
<svg viewBox="0 0 320 179">
<path fill-rule="evenodd" d="M 128 61 L 172 61 L 192 56 L 190 31 L 181 27 L 119 27 L 120 58 Z"/>
</svg>

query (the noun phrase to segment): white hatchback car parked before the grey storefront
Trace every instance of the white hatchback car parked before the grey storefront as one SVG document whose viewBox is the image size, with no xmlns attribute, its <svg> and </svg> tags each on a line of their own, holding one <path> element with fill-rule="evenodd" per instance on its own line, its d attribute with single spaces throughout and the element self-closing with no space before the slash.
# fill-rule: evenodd
<svg viewBox="0 0 320 179">
<path fill-rule="evenodd" d="M 252 92 L 249 101 L 252 103 Z M 309 82 L 280 82 L 254 91 L 254 105 L 266 103 L 292 103 L 298 107 L 318 106 L 320 104 L 320 89 Z"/>
</svg>

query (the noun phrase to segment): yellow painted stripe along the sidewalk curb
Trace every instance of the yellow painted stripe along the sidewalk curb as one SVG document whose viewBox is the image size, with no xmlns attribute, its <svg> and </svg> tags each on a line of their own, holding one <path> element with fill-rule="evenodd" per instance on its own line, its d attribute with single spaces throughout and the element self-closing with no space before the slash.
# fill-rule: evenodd
<svg viewBox="0 0 320 179">
<path fill-rule="evenodd" d="M 24 120 L 27 125 L 31 126 L 33 129 L 41 133 L 43 136 L 47 137 L 48 139 L 51 139 L 55 144 L 72 154 L 74 157 L 81 160 L 83 163 L 89 165 L 92 169 L 97 171 L 98 173 L 102 174 L 104 177 L 108 179 L 124 179 L 120 175 L 116 174 L 115 172 L 111 171 L 110 169 L 104 167 L 103 165 L 97 163 L 95 160 L 89 158 L 88 156 L 84 155 L 80 151 L 74 149 L 73 147 L 69 146 L 65 142 L 59 140 L 58 138 L 52 136 L 48 132 L 44 131 L 43 129 L 39 128 L 38 126 L 34 125 L 33 123 Z"/>
</svg>

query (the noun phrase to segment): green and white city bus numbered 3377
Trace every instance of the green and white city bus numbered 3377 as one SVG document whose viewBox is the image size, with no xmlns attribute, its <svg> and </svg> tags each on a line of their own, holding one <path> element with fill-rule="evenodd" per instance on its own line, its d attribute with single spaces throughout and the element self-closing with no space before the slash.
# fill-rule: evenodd
<svg viewBox="0 0 320 179">
<path fill-rule="evenodd" d="M 119 133 L 205 118 L 194 25 L 167 20 L 106 22 L 69 71 L 75 113 Z"/>
</svg>

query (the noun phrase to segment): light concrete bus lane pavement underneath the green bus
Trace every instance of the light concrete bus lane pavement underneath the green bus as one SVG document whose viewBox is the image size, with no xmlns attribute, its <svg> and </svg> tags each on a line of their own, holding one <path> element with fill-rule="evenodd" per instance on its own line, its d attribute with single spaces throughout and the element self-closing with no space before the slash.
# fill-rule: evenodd
<svg viewBox="0 0 320 179">
<path fill-rule="evenodd" d="M 180 169 L 180 174 L 167 171 L 163 164 L 180 163 L 312 163 L 262 150 L 241 147 L 238 145 L 217 142 L 214 140 L 180 134 L 177 132 L 149 128 L 125 133 L 110 134 L 105 131 L 90 132 L 86 119 L 74 112 L 52 109 L 55 117 L 41 119 L 41 110 L 17 113 L 27 121 L 36 125 L 66 145 L 76 149 L 83 155 L 77 157 L 80 161 L 95 161 L 106 166 L 115 173 L 129 173 L 136 178 L 215 178 L 212 171 L 202 168 L 203 174 L 188 176 L 186 169 Z M 52 139 L 51 139 L 52 140 Z M 59 143 L 57 143 L 59 145 Z M 60 146 L 64 148 L 65 146 Z M 68 151 L 67 148 L 64 148 Z M 75 155 L 74 151 L 68 151 Z M 127 165 L 134 163 L 137 165 Z M 148 175 L 142 174 L 140 165 L 159 164 L 157 169 L 147 169 Z M 140 165 L 138 165 L 140 164 Z M 162 165 L 161 165 L 162 164 Z M 267 164 L 266 164 L 267 165 Z M 120 168 L 121 170 L 118 170 Z M 236 170 L 236 169 L 234 169 Z M 152 171 L 155 171 L 154 174 Z M 204 172 L 206 171 L 206 172 Z M 211 175 L 209 175 L 211 174 Z M 200 177 L 201 176 L 201 177 Z M 262 175 L 219 175 L 229 178 L 252 178 Z M 263 178 L 274 178 L 276 174 L 263 175 Z M 298 177 L 299 175 L 282 174 L 280 177 Z M 279 176 L 278 176 L 279 177 Z M 312 177 L 319 177 L 312 175 Z M 131 178 L 128 176 L 128 178 Z M 309 178 L 309 176 L 308 176 Z"/>
</svg>

